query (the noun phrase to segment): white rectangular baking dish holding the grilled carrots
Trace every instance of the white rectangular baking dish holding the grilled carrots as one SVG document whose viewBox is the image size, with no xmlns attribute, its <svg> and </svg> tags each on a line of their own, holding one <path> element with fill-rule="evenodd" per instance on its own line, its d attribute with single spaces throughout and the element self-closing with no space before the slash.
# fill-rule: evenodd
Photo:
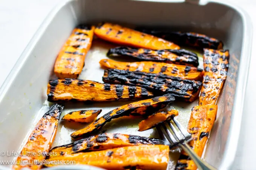
<svg viewBox="0 0 256 170">
<path fill-rule="evenodd" d="M 56 55 L 72 29 L 79 23 L 111 21 L 131 26 L 161 26 L 174 31 L 198 32 L 224 42 L 224 48 L 230 50 L 230 68 L 218 99 L 218 115 L 204 159 L 218 169 L 232 169 L 250 62 L 250 19 L 241 9 L 227 3 L 189 2 L 66 0 L 53 9 L 0 89 L 0 151 L 5 152 L 0 160 L 15 160 L 17 155 L 8 155 L 7 152 L 18 153 L 21 150 L 35 123 L 49 108 L 47 83 L 53 77 Z M 87 55 L 87 58 L 90 57 Z M 86 75 L 83 72 L 79 78 L 95 80 L 99 72 L 90 72 L 87 68 L 99 69 L 99 65 L 96 65 L 98 60 L 87 58 L 84 68 Z M 89 60 L 92 66 L 88 65 Z M 102 75 L 101 72 L 96 81 L 101 81 Z M 116 107 L 115 104 L 111 107 L 106 103 L 103 105 L 105 110 Z M 192 106 L 189 105 L 189 109 Z M 90 106 L 95 107 L 104 106 Z M 189 115 L 190 111 L 187 112 Z M 61 139 L 58 140 L 61 143 Z M 0 169 L 4 167 L 10 165 L 0 165 Z"/>
</svg>

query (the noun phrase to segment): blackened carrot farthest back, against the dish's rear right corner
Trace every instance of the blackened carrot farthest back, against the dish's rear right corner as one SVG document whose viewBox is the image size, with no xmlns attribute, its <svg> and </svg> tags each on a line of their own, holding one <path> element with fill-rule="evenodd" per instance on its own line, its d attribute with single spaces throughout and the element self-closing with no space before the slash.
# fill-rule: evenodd
<svg viewBox="0 0 256 170">
<path fill-rule="evenodd" d="M 169 32 L 145 28 L 137 28 L 136 30 L 172 41 L 181 46 L 195 47 L 199 49 L 212 48 L 215 50 L 220 50 L 223 48 L 222 41 L 194 32 Z"/>
</svg>

